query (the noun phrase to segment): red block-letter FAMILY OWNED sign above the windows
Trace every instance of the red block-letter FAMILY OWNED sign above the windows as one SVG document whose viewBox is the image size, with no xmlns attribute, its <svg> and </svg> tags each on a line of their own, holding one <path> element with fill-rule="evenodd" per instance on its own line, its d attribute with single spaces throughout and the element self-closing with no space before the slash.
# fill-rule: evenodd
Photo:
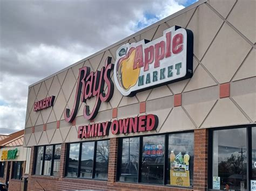
<svg viewBox="0 0 256 191">
<path fill-rule="evenodd" d="M 78 127 L 78 138 L 102 137 L 120 133 L 133 133 L 156 130 L 158 117 L 156 115 L 143 115 L 126 119 L 114 120 L 113 122 L 103 122 Z"/>
</svg>

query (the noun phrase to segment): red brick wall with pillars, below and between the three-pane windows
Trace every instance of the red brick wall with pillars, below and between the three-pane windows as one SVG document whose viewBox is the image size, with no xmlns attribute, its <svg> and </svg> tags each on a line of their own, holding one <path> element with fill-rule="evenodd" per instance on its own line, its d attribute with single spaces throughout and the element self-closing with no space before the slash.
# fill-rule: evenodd
<svg viewBox="0 0 256 191">
<path fill-rule="evenodd" d="M 68 190 L 68 189 L 105 189 L 105 190 L 205 190 L 207 188 L 207 130 L 194 131 L 194 189 L 173 188 L 167 186 L 143 185 L 137 183 L 116 182 L 118 138 L 110 139 L 109 174 L 107 181 L 65 178 L 66 144 L 62 144 L 59 177 L 32 175 L 35 157 L 31 149 L 28 190 Z M 42 187 L 41 187 L 41 186 Z"/>
</svg>

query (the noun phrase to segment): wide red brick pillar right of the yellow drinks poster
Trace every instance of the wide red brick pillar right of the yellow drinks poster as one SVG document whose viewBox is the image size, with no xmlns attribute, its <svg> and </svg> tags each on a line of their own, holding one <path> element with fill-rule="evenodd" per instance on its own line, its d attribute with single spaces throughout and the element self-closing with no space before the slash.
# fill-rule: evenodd
<svg viewBox="0 0 256 191">
<path fill-rule="evenodd" d="M 194 130 L 194 190 L 207 190 L 208 129 Z"/>
</svg>

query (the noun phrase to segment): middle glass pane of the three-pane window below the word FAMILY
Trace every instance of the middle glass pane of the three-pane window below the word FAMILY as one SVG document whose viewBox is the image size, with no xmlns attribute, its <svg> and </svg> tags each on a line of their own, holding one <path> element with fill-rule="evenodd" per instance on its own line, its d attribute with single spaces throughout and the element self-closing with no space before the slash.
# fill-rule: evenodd
<svg viewBox="0 0 256 191">
<path fill-rule="evenodd" d="M 82 144 L 80 177 L 92 178 L 94 142 Z"/>
</svg>

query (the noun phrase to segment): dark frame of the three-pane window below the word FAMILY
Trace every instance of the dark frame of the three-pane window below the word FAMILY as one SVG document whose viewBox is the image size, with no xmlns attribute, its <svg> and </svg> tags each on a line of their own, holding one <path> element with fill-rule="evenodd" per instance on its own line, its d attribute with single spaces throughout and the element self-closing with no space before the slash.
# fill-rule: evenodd
<svg viewBox="0 0 256 191">
<path fill-rule="evenodd" d="M 89 140 L 85 142 L 74 142 L 74 143 L 68 143 L 67 148 L 66 148 L 66 158 L 65 158 L 65 178 L 70 178 L 70 179 L 87 179 L 87 180 L 100 180 L 100 181 L 107 181 L 107 179 L 96 179 L 95 178 L 95 169 L 96 169 L 96 157 L 97 157 L 97 143 L 98 142 L 103 142 L 103 141 L 109 141 L 110 139 L 102 139 L 102 140 Z M 83 178 L 80 177 L 80 167 L 81 167 L 81 158 L 82 158 L 82 144 L 83 143 L 89 143 L 89 142 L 94 142 L 94 150 L 93 150 L 93 165 L 92 165 L 92 178 Z M 78 155 L 78 169 L 77 169 L 77 176 L 76 177 L 71 177 L 67 176 L 68 174 L 68 167 L 69 167 L 69 151 L 70 151 L 70 145 L 71 144 L 79 144 L 79 155 Z M 110 147 L 110 145 L 109 145 Z M 109 172 L 107 172 L 109 173 Z"/>
</svg>

